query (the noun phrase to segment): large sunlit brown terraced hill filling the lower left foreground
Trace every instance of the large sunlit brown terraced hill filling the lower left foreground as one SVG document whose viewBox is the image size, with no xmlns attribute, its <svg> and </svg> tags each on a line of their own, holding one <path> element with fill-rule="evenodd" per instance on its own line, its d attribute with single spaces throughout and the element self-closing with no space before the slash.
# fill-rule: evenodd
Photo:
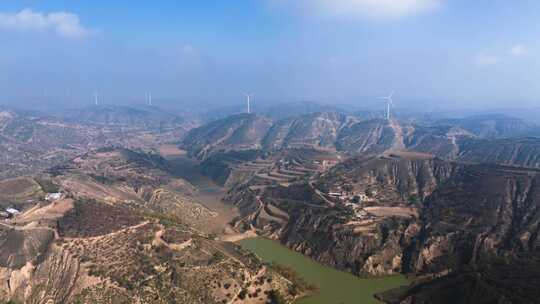
<svg viewBox="0 0 540 304">
<path fill-rule="evenodd" d="M 290 281 L 209 233 L 214 212 L 173 167 L 156 154 L 102 148 L 42 175 L 41 184 L 63 195 L 21 201 L 22 213 L 2 221 L 0 273 L 9 284 L 0 285 L 0 300 L 247 304 L 266 303 L 272 293 L 294 298 Z"/>
</svg>

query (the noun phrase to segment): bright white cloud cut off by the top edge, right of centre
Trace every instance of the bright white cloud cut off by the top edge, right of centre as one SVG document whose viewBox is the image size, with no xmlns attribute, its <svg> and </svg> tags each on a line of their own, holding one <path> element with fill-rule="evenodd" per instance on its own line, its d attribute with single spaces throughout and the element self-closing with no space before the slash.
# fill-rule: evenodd
<svg viewBox="0 0 540 304">
<path fill-rule="evenodd" d="M 443 0 L 270 0 L 332 17 L 402 17 L 430 11 Z"/>
</svg>

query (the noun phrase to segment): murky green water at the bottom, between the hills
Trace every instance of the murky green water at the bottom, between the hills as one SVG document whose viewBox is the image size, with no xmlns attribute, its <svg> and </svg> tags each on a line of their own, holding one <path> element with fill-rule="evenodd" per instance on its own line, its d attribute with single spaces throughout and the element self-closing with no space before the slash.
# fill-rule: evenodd
<svg viewBox="0 0 540 304">
<path fill-rule="evenodd" d="M 317 294 L 300 299 L 295 304 L 370 304 L 381 303 L 373 295 L 406 285 L 404 276 L 362 279 L 352 274 L 323 266 L 278 242 L 254 238 L 240 245 L 257 254 L 265 262 L 274 262 L 296 270 L 306 281 L 319 288 Z"/>
</svg>

